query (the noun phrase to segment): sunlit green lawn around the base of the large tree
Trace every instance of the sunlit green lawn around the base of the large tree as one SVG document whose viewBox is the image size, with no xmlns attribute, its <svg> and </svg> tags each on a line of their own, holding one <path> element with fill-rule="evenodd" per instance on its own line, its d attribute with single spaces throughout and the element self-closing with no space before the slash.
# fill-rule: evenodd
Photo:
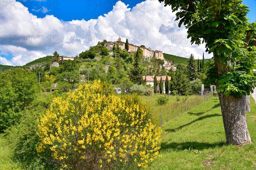
<svg viewBox="0 0 256 170">
<path fill-rule="evenodd" d="M 162 129 L 161 158 L 147 170 L 255 170 L 256 105 L 246 114 L 253 144 L 226 145 L 217 97 L 166 123 Z"/>
</svg>

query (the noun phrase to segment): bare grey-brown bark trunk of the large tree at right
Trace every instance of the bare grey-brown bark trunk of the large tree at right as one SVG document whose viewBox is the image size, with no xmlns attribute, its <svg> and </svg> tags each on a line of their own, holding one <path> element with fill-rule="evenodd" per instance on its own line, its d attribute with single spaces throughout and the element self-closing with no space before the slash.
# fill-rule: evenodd
<svg viewBox="0 0 256 170">
<path fill-rule="evenodd" d="M 218 93 L 227 144 L 251 143 L 245 113 L 250 108 L 250 97 L 234 98 Z"/>
</svg>

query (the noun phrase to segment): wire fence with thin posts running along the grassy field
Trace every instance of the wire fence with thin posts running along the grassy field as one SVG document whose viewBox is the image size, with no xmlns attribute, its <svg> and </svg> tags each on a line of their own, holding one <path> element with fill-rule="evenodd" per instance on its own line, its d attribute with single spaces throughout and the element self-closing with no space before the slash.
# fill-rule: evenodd
<svg viewBox="0 0 256 170">
<path fill-rule="evenodd" d="M 155 118 L 159 120 L 159 125 L 161 126 L 164 123 L 176 119 L 179 116 L 189 112 L 190 110 L 197 108 L 199 105 L 207 101 L 210 97 L 210 94 L 205 94 L 203 96 L 192 97 L 183 102 L 169 103 L 165 106 L 160 107 L 160 110 L 153 108 L 153 114 Z"/>
</svg>

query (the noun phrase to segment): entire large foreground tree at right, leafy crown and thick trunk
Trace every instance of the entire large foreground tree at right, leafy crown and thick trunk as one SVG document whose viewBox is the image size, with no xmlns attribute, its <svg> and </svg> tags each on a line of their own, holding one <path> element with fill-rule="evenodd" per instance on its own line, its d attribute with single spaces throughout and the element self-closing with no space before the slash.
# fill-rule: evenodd
<svg viewBox="0 0 256 170">
<path fill-rule="evenodd" d="M 191 42 L 205 42 L 206 51 L 213 53 L 214 62 L 207 75 L 209 83 L 218 89 L 227 144 L 251 142 L 245 113 L 250 110 L 249 95 L 256 86 L 252 72 L 255 54 L 249 49 L 255 51 L 256 47 L 247 44 L 256 40 L 250 35 L 255 27 L 251 29 L 247 22 L 247 6 L 241 4 L 242 0 L 159 1 L 172 6 L 173 12 L 179 10 L 176 20 L 180 20 L 179 26 L 188 28 Z"/>
</svg>

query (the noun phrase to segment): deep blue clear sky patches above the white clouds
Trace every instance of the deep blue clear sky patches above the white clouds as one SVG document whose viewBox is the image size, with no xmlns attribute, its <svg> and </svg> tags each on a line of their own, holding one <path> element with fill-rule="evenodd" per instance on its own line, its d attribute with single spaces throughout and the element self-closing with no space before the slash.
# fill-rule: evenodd
<svg viewBox="0 0 256 170">
<path fill-rule="evenodd" d="M 118 0 L 18 0 L 29 8 L 29 12 L 38 16 L 45 17 L 47 14 L 54 15 L 60 20 L 90 20 L 97 19 L 100 15 L 107 14 L 113 9 Z M 143 0 L 122 0 L 133 8 Z M 244 0 L 244 5 L 250 8 L 247 17 L 250 22 L 256 20 L 256 0 Z M 43 9 L 44 7 L 44 9 Z M 124 6 L 125 8 L 125 6 Z M 141 5 L 143 8 L 143 4 Z"/>
</svg>

